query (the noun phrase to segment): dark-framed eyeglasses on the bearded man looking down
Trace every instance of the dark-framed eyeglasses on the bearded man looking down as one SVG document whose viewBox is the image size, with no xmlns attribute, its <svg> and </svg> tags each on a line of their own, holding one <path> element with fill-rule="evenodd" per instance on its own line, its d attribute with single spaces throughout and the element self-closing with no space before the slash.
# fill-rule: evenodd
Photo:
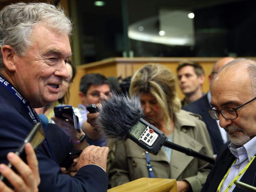
<svg viewBox="0 0 256 192">
<path fill-rule="evenodd" d="M 225 108 L 225 109 L 221 109 L 221 110 L 216 110 L 216 109 L 213 109 L 214 107 L 211 107 L 210 109 L 208 109 L 208 113 L 210 114 L 211 118 L 213 118 L 214 120 L 219 120 L 220 113 L 224 116 L 224 118 L 226 118 L 228 120 L 234 120 L 238 117 L 237 109 L 247 105 L 248 103 L 252 102 L 255 99 L 256 99 L 256 97 L 254 97 L 249 102 L 246 102 L 243 105 L 240 105 L 235 108 Z"/>
</svg>

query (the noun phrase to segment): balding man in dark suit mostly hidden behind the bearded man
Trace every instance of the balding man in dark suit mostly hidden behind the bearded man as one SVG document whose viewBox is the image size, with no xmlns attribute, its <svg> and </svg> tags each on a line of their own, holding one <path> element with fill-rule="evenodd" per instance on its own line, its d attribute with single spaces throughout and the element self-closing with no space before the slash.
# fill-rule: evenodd
<svg viewBox="0 0 256 192">
<path fill-rule="evenodd" d="M 212 72 L 208 78 L 209 84 L 211 85 L 211 81 L 213 80 L 215 74 L 229 61 L 234 60 L 233 57 L 224 57 L 219 59 L 213 66 Z M 227 142 L 227 133 L 226 131 L 219 126 L 219 120 L 214 120 L 211 118 L 208 113 L 208 109 L 211 107 L 211 92 L 208 91 L 207 94 L 202 96 L 202 98 L 198 99 L 195 102 L 189 103 L 184 106 L 182 109 L 186 111 L 190 111 L 192 113 L 200 114 L 202 116 L 202 121 L 205 122 L 208 132 L 211 137 L 211 144 L 213 146 L 214 154 L 218 154 L 223 148 L 223 144 Z"/>
</svg>

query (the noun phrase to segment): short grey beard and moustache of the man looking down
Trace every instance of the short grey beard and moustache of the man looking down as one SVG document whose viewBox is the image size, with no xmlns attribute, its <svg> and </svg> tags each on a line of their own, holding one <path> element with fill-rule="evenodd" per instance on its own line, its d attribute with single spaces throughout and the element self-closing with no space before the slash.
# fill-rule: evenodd
<svg viewBox="0 0 256 192">
<path fill-rule="evenodd" d="M 230 141 L 232 142 L 232 144 L 236 146 L 243 146 L 250 140 L 249 135 L 247 135 L 247 133 L 245 133 L 245 131 L 243 131 L 241 127 L 229 125 L 225 127 L 225 131 L 226 132 L 239 131 L 243 133 L 242 135 L 240 134 L 239 136 L 236 135 L 236 133 L 230 134 Z"/>
</svg>

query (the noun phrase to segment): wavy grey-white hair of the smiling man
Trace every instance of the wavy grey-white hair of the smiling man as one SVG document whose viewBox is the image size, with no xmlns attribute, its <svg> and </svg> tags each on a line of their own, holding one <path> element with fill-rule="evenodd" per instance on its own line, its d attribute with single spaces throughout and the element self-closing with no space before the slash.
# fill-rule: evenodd
<svg viewBox="0 0 256 192">
<path fill-rule="evenodd" d="M 33 27 L 41 23 L 59 33 L 72 33 L 72 22 L 61 8 L 46 3 L 11 4 L 0 11 L 0 46 L 9 45 L 15 53 L 24 56 L 32 45 Z M 0 68 L 3 68 L 2 53 L 0 57 Z"/>
</svg>

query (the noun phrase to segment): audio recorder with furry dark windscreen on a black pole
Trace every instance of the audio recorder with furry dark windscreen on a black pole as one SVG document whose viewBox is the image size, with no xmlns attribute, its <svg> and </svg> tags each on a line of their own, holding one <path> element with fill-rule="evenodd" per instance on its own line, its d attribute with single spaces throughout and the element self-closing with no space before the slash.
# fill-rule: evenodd
<svg viewBox="0 0 256 192">
<path fill-rule="evenodd" d="M 152 124 L 146 122 L 143 117 L 143 109 L 139 96 L 129 98 L 127 94 L 115 94 L 101 102 L 96 126 L 106 138 L 113 140 L 132 139 L 141 148 L 157 155 L 162 146 L 166 146 L 186 155 L 197 157 L 214 164 L 215 159 L 184 148 L 173 142 L 167 141 L 167 137 Z"/>
</svg>

